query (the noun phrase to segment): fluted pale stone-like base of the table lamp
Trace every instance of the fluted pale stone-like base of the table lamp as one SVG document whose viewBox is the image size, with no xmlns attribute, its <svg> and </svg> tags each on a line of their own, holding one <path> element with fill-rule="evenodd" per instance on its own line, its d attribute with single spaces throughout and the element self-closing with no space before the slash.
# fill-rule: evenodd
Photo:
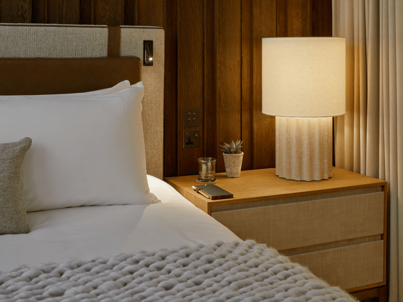
<svg viewBox="0 0 403 302">
<path fill-rule="evenodd" d="M 331 177 L 332 117 L 276 116 L 276 175 L 292 180 Z"/>
</svg>

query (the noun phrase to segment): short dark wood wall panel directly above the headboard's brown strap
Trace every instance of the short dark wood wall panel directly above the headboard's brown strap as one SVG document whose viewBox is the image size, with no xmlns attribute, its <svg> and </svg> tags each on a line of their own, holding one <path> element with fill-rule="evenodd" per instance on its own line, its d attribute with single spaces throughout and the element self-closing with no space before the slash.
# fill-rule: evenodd
<svg viewBox="0 0 403 302">
<path fill-rule="evenodd" d="M 94 24 L 123 25 L 122 0 L 94 0 Z"/>
</svg>

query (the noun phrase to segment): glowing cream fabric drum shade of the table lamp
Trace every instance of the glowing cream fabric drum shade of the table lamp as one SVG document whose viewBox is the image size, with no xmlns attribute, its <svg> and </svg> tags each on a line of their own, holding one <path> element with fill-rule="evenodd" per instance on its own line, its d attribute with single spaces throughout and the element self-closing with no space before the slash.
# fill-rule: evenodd
<svg viewBox="0 0 403 302">
<path fill-rule="evenodd" d="M 285 117 L 346 113 L 346 40 L 263 38 L 262 112 Z"/>
</svg>

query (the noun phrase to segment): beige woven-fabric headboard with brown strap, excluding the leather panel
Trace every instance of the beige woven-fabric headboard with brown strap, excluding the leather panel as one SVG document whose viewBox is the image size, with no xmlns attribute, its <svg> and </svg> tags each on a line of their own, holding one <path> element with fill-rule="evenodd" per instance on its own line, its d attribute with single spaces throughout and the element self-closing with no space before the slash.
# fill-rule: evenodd
<svg viewBox="0 0 403 302">
<path fill-rule="evenodd" d="M 143 60 L 145 40 L 153 41 L 153 66 L 141 68 L 145 88 L 142 117 L 147 174 L 162 179 L 164 29 L 138 26 L 0 24 L 0 57 L 88 58 L 107 57 L 112 54 L 137 56 Z M 1 77 L 2 75 L 0 85 Z"/>
</svg>

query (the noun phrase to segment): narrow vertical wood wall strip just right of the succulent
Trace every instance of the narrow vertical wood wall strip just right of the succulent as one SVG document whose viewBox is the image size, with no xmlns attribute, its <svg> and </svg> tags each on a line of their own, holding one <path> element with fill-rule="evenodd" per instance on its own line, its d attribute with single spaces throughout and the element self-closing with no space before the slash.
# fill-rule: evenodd
<svg viewBox="0 0 403 302">
<path fill-rule="evenodd" d="M 253 168 L 252 1 L 242 0 L 242 170 Z"/>
</svg>

